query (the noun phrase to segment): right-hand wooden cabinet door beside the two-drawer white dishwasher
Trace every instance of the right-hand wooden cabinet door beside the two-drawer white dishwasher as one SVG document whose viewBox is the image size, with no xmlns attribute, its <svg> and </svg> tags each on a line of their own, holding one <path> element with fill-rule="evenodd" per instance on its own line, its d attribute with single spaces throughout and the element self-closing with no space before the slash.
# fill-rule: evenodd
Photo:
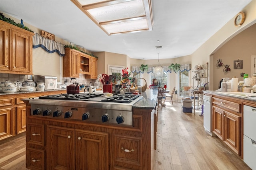
<svg viewBox="0 0 256 170">
<path fill-rule="evenodd" d="M 241 116 L 224 111 L 224 139 L 223 141 L 241 155 Z"/>
</svg>

